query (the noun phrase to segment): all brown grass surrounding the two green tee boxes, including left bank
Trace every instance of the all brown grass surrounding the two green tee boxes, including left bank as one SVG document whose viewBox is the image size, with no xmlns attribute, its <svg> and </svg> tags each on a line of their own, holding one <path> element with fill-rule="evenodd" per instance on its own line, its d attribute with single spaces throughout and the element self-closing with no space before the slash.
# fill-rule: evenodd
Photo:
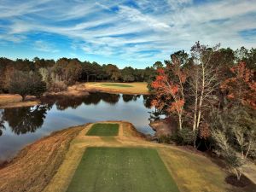
<svg viewBox="0 0 256 192">
<path fill-rule="evenodd" d="M 147 142 L 125 121 L 100 123 L 119 124 L 119 135 L 86 136 L 93 124 L 55 132 L 23 149 L 15 160 L 0 169 L 0 191 L 64 192 L 88 147 L 156 148 L 181 192 L 253 191 L 254 186 L 240 189 L 225 183 L 226 170 L 206 155 Z"/>
</svg>

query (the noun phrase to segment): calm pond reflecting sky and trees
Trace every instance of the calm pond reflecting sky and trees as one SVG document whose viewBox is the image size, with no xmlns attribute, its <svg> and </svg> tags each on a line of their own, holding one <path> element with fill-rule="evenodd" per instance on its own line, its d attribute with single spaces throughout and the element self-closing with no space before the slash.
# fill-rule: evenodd
<svg viewBox="0 0 256 192">
<path fill-rule="evenodd" d="M 89 122 L 126 120 L 137 131 L 154 134 L 148 125 L 148 96 L 96 92 L 78 98 L 44 100 L 34 107 L 0 109 L 0 160 L 8 160 L 26 144 L 53 131 Z"/>
</svg>

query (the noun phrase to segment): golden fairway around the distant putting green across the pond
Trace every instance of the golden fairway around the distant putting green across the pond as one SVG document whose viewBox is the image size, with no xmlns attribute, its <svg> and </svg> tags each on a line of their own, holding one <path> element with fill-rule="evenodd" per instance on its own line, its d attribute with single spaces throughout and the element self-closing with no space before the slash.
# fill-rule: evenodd
<svg viewBox="0 0 256 192">
<path fill-rule="evenodd" d="M 121 93 L 121 94 L 136 94 L 136 95 L 148 95 L 147 83 L 137 82 L 137 83 L 111 83 L 111 84 L 127 84 L 132 87 L 118 87 L 118 86 L 104 86 L 102 84 L 109 83 L 85 83 L 85 89 L 88 91 L 100 91 L 107 93 Z"/>
</svg>

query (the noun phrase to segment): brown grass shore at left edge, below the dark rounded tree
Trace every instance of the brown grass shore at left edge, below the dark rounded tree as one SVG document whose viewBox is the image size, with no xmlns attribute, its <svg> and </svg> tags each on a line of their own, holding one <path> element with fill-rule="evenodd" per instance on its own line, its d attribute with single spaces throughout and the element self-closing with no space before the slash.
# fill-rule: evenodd
<svg viewBox="0 0 256 192">
<path fill-rule="evenodd" d="M 28 96 L 28 100 L 30 99 L 34 100 L 34 97 Z M 22 102 L 22 97 L 18 94 L 0 94 L 0 108 L 30 107 L 38 105 L 38 103 L 38 100 Z"/>
</svg>

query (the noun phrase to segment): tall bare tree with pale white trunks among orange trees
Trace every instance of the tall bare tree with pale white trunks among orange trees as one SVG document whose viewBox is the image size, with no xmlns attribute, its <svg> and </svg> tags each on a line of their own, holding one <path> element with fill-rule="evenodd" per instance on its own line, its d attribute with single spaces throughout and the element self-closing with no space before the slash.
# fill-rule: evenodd
<svg viewBox="0 0 256 192">
<path fill-rule="evenodd" d="M 204 118 L 203 112 L 211 107 L 216 97 L 214 90 L 218 87 L 218 67 L 211 65 L 214 60 L 214 52 L 218 50 L 219 44 L 213 48 L 207 48 L 196 42 L 191 48 L 191 55 L 194 66 L 189 70 L 189 94 L 194 102 L 191 112 L 194 132 L 194 147 L 196 144 L 197 135 L 200 130 L 201 121 Z"/>
</svg>

